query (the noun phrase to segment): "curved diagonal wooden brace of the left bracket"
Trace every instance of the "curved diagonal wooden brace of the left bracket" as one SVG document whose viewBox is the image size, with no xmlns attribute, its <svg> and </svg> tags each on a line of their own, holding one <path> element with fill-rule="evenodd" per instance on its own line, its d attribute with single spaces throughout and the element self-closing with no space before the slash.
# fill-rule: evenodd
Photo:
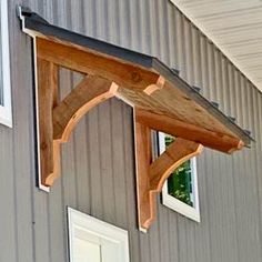
<svg viewBox="0 0 262 262">
<path fill-rule="evenodd" d="M 112 98 L 118 85 L 103 78 L 85 77 L 53 109 L 53 139 L 66 142 L 79 120 L 99 103 Z"/>
</svg>

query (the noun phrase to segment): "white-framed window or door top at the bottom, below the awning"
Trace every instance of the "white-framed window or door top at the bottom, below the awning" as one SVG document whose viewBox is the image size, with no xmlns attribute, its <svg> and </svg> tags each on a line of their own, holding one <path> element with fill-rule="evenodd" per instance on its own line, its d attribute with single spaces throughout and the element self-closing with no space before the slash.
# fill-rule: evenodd
<svg viewBox="0 0 262 262">
<path fill-rule="evenodd" d="M 70 262 L 129 262 L 128 232 L 68 209 Z"/>
</svg>

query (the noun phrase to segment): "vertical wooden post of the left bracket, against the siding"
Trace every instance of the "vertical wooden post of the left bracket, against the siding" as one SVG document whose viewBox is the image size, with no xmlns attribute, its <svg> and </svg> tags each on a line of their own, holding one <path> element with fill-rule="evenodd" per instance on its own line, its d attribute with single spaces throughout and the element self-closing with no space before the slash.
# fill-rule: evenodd
<svg viewBox="0 0 262 262">
<path fill-rule="evenodd" d="M 38 58 L 39 150 L 41 183 L 57 177 L 58 147 L 53 145 L 52 109 L 57 103 L 58 67 Z M 56 150 L 54 148 L 56 147 Z"/>
</svg>

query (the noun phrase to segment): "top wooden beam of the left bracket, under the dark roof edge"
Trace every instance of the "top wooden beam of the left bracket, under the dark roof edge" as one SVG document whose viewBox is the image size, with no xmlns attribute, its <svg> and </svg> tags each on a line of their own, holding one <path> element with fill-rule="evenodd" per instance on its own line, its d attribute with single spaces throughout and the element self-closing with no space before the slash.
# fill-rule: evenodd
<svg viewBox="0 0 262 262">
<path fill-rule="evenodd" d="M 144 90 L 154 83 L 159 87 L 162 84 L 158 73 L 98 54 L 89 49 L 37 38 L 37 50 L 38 56 L 44 60 L 73 71 L 107 78 L 121 87 Z"/>
</svg>

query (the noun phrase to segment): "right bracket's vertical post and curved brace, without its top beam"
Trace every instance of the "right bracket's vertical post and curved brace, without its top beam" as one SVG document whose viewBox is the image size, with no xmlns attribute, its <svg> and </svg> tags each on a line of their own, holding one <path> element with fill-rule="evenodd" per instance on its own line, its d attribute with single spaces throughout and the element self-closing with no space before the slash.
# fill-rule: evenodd
<svg viewBox="0 0 262 262">
<path fill-rule="evenodd" d="M 135 119 L 135 153 L 139 225 L 147 231 L 155 219 L 155 196 L 164 181 L 182 163 L 202 152 L 203 145 L 177 138 L 158 159 L 152 161 L 151 130 Z"/>
</svg>

